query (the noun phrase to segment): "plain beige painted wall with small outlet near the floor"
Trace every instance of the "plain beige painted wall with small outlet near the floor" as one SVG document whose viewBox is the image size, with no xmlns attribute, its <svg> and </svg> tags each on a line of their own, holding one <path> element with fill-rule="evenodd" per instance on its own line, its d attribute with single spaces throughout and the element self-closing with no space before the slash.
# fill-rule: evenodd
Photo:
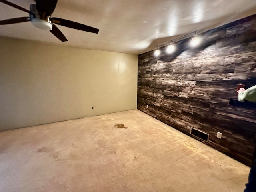
<svg viewBox="0 0 256 192">
<path fill-rule="evenodd" d="M 136 109 L 137 64 L 132 54 L 0 38 L 0 130 Z"/>
</svg>

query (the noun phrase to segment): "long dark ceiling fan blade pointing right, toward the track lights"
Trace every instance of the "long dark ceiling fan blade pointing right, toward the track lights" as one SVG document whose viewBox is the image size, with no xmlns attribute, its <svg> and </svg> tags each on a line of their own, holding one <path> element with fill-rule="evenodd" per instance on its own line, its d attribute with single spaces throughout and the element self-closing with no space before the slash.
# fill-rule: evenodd
<svg viewBox="0 0 256 192">
<path fill-rule="evenodd" d="M 99 30 L 94 28 L 94 27 L 90 27 L 90 26 L 87 26 L 87 25 L 84 25 L 84 24 L 81 24 L 81 23 L 77 23 L 77 22 L 74 22 L 74 21 L 61 19 L 61 18 L 57 18 L 57 17 L 53 17 L 52 22 L 54 22 L 58 25 L 65 26 L 65 27 L 78 29 L 78 30 L 82 30 L 82 31 L 87 31 L 87 32 L 91 32 L 91 33 L 98 33 L 99 32 Z"/>
</svg>

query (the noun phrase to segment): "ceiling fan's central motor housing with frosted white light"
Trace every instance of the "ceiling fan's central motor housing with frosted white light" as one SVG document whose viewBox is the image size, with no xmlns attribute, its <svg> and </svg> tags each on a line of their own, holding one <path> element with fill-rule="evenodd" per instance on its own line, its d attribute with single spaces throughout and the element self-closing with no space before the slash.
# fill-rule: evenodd
<svg viewBox="0 0 256 192">
<path fill-rule="evenodd" d="M 36 9 L 36 4 L 30 5 L 30 19 L 32 24 L 42 30 L 52 30 L 52 21 L 49 17 L 44 14 L 40 14 Z"/>
</svg>

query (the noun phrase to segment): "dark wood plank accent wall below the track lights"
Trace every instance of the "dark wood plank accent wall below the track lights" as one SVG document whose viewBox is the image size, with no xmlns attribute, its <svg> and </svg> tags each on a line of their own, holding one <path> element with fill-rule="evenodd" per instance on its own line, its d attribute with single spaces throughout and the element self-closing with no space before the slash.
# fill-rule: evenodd
<svg viewBox="0 0 256 192">
<path fill-rule="evenodd" d="M 191 128 L 202 130 L 210 135 L 202 142 L 250 166 L 255 105 L 229 100 L 238 99 L 237 84 L 256 84 L 256 14 L 200 36 L 196 49 L 185 39 L 175 43 L 174 54 L 163 47 L 158 58 L 153 51 L 138 56 L 138 110 L 190 136 Z"/>
</svg>

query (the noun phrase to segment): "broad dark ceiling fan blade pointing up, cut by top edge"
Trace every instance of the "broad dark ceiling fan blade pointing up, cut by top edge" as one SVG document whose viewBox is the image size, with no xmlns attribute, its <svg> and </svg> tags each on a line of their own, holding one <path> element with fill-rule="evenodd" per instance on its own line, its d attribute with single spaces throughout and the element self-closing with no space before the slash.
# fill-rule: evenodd
<svg viewBox="0 0 256 192">
<path fill-rule="evenodd" d="M 36 9 L 38 12 L 45 12 L 46 16 L 51 16 L 58 0 L 36 0 Z"/>
</svg>

